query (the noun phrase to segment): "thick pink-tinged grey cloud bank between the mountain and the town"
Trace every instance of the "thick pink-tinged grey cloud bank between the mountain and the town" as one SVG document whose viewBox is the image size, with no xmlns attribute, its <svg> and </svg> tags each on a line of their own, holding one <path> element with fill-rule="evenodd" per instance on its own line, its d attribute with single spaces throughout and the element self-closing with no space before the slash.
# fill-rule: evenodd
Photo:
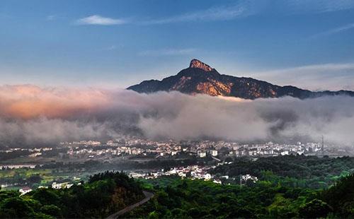
<svg viewBox="0 0 354 219">
<path fill-rule="evenodd" d="M 152 139 L 287 141 L 352 146 L 354 97 L 243 100 L 235 97 L 140 94 L 132 90 L 0 86 L 1 146 L 107 140 L 120 134 Z"/>
</svg>

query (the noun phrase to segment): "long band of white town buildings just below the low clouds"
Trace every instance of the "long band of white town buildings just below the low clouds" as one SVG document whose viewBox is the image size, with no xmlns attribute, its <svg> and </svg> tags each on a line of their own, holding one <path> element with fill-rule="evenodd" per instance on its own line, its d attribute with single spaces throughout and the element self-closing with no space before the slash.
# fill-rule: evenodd
<svg viewBox="0 0 354 219">
<path fill-rule="evenodd" d="M 100 143 L 79 141 L 62 143 L 68 148 L 69 158 L 113 158 L 117 156 L 139 156 L 140 158 L 173 158 L 188 154 L 198 158 L 264 157 L 277 155 L 324 155 L 330 153 L 321 143 L 240 144 L 226 141 L 148 141 L 144 139 L 117 139 Z M 100 146 L 100 147 L 98 147 Z M 340 150 L 338 150 L 340 151 Z"/>
</svg>

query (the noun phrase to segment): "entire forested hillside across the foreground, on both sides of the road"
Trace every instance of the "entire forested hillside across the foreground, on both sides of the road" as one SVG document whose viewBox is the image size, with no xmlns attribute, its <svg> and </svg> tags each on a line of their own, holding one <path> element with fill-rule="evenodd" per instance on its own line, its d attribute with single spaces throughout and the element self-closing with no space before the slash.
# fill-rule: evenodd
<svg viewBox="0 0 354 219">
<path fill-rule="evenodd" d="M 171 175 L 132 179 L 103 172 L 70 189 L 0 191 L 0 218 L 105 218 L 144 198 L 125 218 L 353 218 L 353 158 L 237 158 L 219 165 L 222 184 Z M 258 181 L 239 183 L 240 174 Z M 319 183 L 315 183 L 319 181 Z"/>
</svg>

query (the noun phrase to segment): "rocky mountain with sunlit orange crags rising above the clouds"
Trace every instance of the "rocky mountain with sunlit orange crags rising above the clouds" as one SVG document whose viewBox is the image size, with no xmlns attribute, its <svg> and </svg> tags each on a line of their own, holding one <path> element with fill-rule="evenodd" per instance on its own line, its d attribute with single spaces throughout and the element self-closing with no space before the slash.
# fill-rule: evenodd
<svg viewBox="0 0 354 219">
<path fill-rule="evenodd" d="M 290 85 L 273 85 L 253 78 L 227 76 L 220 74 L 217 70 L 198 59 L 190 61 L 189 67 L 180 71 L 176 76 L 164 78 L 162 81 L 142 81 L 142 83 L 132 85 L 127 89 L 135 90 L 138 93 L 177 90 L 191 95 L 203 93 L 212 96 L 222 95 L 244 99 L 283 96 L 292 96 L 300 99 L 323 95 L 354 96 L 354 92 L 349 90 L 313 92 Z"/>
</svg>

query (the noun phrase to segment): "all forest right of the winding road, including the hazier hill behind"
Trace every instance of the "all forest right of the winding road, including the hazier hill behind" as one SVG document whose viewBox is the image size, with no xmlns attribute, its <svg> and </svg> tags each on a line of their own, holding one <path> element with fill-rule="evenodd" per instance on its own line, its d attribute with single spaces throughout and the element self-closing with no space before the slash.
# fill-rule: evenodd
<svg viewBox="0 0 354 219">
<path fill-rule="evenodd" d="M 211 170 L 223 184 L 161 177 L 144 181 L 153 201 L 127 218 L 353 218 L 354 158 L 235 158 Z M 258 182 L 239 185 L 241 174 Z"/>
</svg>

